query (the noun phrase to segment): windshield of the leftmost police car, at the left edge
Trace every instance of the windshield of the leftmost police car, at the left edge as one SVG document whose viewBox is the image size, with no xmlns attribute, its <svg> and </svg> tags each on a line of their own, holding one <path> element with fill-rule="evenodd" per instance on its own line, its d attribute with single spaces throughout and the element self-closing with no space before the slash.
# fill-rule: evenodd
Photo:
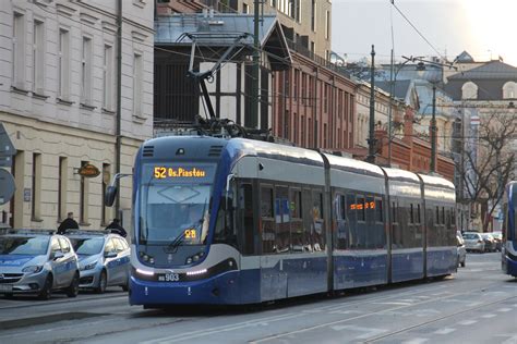
<svg viewBox="0 0 517 344">
<path fill-rule="evenodd" d="M 0 236 L 0 255 L 45 255 L 48 236 Z"/>
</svg>

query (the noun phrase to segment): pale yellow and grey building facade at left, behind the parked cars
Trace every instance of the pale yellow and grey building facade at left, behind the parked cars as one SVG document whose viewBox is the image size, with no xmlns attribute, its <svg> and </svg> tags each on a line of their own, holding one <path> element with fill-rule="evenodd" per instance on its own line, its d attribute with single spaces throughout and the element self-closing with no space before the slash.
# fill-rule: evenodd
<svg viewBox="0 0 517 344">
<path fill-rule="evenodd" d="M 120 170 L 131 173 L 153 134 L 154 8 L 122 3 Z M 116 171 L 116 2 L 8 0 L 0 22 L 0 122 L 17 151 L 0 225 L 56 229 L 73 211 L 81 228 L 104 226 L 116 216 L 103 197 Z M 81 176 L 86 163 L 100 175 Z M 131 181 L 121 186 L 129 220 Z"/>
</svg>

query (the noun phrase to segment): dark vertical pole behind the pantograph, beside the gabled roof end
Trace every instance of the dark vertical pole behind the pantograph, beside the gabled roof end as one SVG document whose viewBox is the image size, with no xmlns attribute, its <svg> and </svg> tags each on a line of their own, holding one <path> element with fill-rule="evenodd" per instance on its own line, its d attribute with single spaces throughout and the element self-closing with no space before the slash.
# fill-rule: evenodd
<svg viewBox="0 0 517 344">
<path fill-rule="evenodd" d="M 251 87 L 251 95 L 250 95 L 250 103 L 251 103 L 251 111 L 249 114 L 248 121 L 244 121 L 247 126 L 256 128 L 258 125 L 258 94 L 260 94 L 260 79 L 258 79 L 258 71 L 260 71 L 260 51 L 261 51 L 261 41 L 258 40 L 258 23 L 260 23 L 260 9 L 258 4 L 261 0 L 254 0 L 254 20 L 253 20 L 253 66 L 251 72 L 252 77 L 252 87 Z"/>
</svg>

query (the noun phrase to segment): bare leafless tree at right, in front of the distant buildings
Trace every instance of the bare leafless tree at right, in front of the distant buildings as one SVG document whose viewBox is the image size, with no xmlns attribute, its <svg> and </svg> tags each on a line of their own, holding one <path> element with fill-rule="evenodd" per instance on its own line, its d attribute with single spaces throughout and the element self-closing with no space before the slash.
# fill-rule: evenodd
<svg viewBox="0 0 517 344">
<path fill-rule="evenodd" d="M 486 232 L 504 186 L 515 177 L 517 155 L 512 143 L 517 139 L 517 116 L 501 111 L 483 115 L 477 134 L 465 151 L 465 171 L 458 162 L 457 169 L 470 200 L 481 205 Z"/>
</svg>

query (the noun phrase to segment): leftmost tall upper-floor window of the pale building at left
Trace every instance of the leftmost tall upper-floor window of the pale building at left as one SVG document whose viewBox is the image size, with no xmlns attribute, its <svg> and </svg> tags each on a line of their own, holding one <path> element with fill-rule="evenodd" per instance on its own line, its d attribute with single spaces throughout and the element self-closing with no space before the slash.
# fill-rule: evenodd
<svg viewBox="0 0 517 344">
<path fill-rule="evenodd" d="M 13 87 L 25 89 L 25 16 L 13 14 Z"/>
</svg>

